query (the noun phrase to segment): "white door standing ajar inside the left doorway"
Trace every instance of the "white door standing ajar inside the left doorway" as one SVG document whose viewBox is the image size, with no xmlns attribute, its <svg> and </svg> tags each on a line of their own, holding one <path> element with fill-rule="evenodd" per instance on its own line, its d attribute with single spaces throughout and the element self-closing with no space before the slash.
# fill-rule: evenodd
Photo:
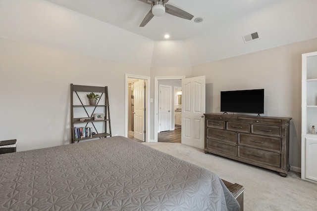
<svg viewBox="0 0 317 211">
<path fill-rule="evenodd" d="M 144 80 L 134 83 L 134 137 L 144 141 Z"/>
</svg>

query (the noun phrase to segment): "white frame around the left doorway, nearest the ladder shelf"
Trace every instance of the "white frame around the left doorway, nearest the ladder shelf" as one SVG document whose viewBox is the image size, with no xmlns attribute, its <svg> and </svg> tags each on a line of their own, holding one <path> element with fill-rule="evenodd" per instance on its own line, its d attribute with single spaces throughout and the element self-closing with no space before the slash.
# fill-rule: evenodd
<svg viewBox="0 0 317 211">
<path fill-rule="evenodd" d="M 149 142 L 150 140 L 150 134 L 151 134 L 151 131 L 150 130 L 150 124 L 151 124 L 151 119 L 150 119 L 150 87 L 151 87 L 151 84 L 150 84 L 150 81 L 151 81 L 151 77 L 148 77 L 148 76 L 138 76 L 138 75 L 132 75 L 132 74 L 125 74 L 125 88 L 124 88 L 124 92 L 125 92 L 125 99 L 124 99 L 124 105 L 125 105 L 125 109 L 124 109 L 124 116 L 125 116 L 125 121 L 124 121 L 124 136 L 125 137 L 128 137 L 128 115 L 129 115 L 129 112 L 128 112 L 128 109 L 129 109 L 129 103 L 128 103 L 128 96 L 129 96 L 129 82 L 128 82 L 128 79 L 143 79 L 146 81 L 146 84 L 147 84 L 147 87 L 145 89 L 145 142 Z"/>
</svg>

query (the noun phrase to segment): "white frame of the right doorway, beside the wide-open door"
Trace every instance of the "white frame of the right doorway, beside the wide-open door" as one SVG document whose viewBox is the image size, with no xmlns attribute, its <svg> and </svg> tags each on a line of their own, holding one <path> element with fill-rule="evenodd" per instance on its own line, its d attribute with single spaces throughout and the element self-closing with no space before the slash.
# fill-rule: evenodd
<svg viewBox="0 0 317 211">
<path fill-rule="evenodd" d="M 159 80 L 175 80 L 175 79 L 185 79 L 185 76 L 164 76 L 164 77 L 154 77 L 154 142 L 158 142 L 159 135 Z M 126 121 L 127 122 L 127 121 Z"/>
</svg>

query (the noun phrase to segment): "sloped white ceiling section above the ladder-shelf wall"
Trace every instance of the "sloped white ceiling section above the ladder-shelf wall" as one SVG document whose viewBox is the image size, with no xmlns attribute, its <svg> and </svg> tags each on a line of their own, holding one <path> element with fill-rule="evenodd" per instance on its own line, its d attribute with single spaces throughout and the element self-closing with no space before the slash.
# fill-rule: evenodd
<svg viewBox="0 0 317 211">
<path fill-rule="evenodd" d="M 152 64 L 153 40 L 46 0 L 0 0 L 0 29 L 1 38 L 127 64 Z"/>
</svg>

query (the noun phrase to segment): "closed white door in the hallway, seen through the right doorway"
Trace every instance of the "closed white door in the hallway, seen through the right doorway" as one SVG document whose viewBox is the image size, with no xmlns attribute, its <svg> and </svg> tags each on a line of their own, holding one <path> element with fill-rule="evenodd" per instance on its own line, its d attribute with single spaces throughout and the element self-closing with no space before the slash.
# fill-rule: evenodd
<svg viewBox="0 0 317 211">
<path fill-rule="evenodd" d="M 159 131 L 170 130 L 171 86 L 159 85 Z"/>
</svg>

